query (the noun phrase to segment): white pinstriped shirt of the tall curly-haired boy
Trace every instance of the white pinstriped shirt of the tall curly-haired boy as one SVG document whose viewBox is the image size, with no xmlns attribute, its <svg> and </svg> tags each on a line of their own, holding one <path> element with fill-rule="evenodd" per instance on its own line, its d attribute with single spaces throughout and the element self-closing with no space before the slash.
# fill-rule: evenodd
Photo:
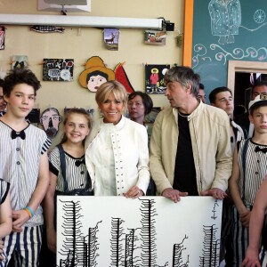
<svg viewBox="0 0 267 267">
<path fill-rule="evenodd" d="M 41 156 L 51 145 L 43 130 L 34 125 L 24 129 L 26 138 L 11 138 L 12 128 L 0 121 L 0 177 L 10 183 L 12 210 L 28 206 L 36 190 Z M 42 207 L 25 226 L 44 223 Z"/>
</svg>

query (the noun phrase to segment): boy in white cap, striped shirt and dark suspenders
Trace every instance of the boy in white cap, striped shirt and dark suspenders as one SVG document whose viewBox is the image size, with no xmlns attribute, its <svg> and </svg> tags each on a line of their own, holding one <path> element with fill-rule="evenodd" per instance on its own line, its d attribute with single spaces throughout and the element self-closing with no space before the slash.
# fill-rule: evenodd
<svg viewBox="0 0 267 267">
<path fill-rule="evenodd" d="M 255 195 L 267 174 L 267 94 L 261 93 L 250 101 L 249 120 L 255 126 L 251 139 L 237 143 L 230 178 L 234 202 L 233 251 L 234 266 L 241 266 L 248 246 L 248 225 Z"/>
</svg>

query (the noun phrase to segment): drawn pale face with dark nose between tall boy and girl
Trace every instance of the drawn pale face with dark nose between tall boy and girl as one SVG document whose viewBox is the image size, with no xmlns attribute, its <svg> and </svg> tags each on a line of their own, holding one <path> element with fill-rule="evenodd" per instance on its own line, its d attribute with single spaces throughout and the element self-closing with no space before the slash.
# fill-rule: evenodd
<svg viewBox="0 0 267 267">
<path fill-rule="evenodd" d="M 46 109 L 40 118 L 44 131 L 49 138 L 53 138 L 58 134 L 59 124 L 61 123 L 61 115 L 57 109 Z"/>
</svg>

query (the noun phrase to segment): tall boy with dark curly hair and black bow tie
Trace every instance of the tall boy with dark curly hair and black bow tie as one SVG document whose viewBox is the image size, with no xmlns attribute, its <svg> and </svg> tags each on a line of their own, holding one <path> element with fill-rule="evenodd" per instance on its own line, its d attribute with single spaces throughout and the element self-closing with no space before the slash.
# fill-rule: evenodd
<svg viewBox="0 0 267 267">
<path fill-rule="evenodd" d="M 38 266 L 42 245 L 43 210 L 49 183 L 47 150 L 51 141 L 25 117 L 36 102 L 40 82 L 29 69 L 13 69 L 4 78 L 7 111 L 0 117 L 0 177 L 10 183 L 12 233 L 4 238 L 6 266 Z M 30 241 L 29 241 L 30 240 Z"/>
</svg>

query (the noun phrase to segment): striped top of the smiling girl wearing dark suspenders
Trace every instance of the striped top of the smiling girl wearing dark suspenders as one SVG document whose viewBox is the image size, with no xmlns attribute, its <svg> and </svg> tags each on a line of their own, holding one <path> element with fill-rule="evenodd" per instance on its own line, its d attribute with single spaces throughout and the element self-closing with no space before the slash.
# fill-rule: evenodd
<svg viewBox="0 0 267 267">
<path fill-rule="evenodd" d="M 73 158 L 65 152 L 66 159 L 66 180 L 68 189 L 84 189 L 86 186 L 87 169 L 85 166 L 85 155 L 81 158 Z M 57 176 L 56 190 L 64 191 L 64 181 L 61 173 L 60 151 L 55 147 L 49 153 L 49 170 Z"/>
</svg>

